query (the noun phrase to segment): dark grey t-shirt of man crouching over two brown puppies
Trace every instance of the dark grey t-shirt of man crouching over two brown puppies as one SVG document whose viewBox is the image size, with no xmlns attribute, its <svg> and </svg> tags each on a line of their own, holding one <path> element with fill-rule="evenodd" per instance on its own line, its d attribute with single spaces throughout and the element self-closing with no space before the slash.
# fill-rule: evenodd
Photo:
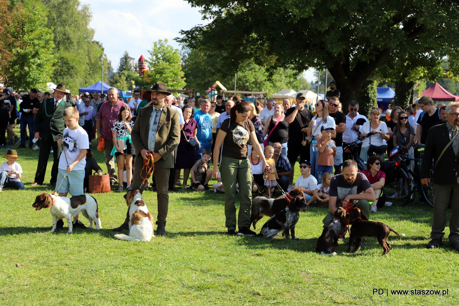
<svg viewBox="0 0 459 306">
<path fill-rule="evenodd" d="M 371 185 L 367 177 L 361 172 L 357 173 L 354 184 L 350 185 L 344 181 L 344 177 L 341 174 L 335 175 L 330 181 L 330 196 L 336 196 L 336 205 L 338 206 L 347 195 L 358 195 L 363 193 L 365 190 L 371 188 Z M 357 203 L 357 200 L 351 201 L 353 204 Z"/>
</svg>

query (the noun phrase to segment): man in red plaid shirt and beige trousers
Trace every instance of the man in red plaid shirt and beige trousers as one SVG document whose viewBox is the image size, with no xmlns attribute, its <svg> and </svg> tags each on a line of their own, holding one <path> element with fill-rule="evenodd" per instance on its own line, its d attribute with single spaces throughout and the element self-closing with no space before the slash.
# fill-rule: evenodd
<svg viewBox="0 0 459 306">
<path fill-rule="evenodd" d="M 110 176 L 110 184 L 113 185 L 117 182 L 117 175 L 115 171 L 115 161 L 113 160 L 113 156 L 110 155 L 113 150 L 112 127 L 113 123 L 118 119 L 118 114 L 121 106 L 129 106 L 123 101 L 118 100 L 118 89 L 115 87 L 108 89 L 107 95 L 108 101 L 101 105 L 101 109 L 97 114 L 96 129 L 97 140 L 101 141 L 102 137 L 105 139 L 105 164 L 107 165 L 107 172 Z M 122 180 L 123 178 L 120 179 Z"/>
</svg>

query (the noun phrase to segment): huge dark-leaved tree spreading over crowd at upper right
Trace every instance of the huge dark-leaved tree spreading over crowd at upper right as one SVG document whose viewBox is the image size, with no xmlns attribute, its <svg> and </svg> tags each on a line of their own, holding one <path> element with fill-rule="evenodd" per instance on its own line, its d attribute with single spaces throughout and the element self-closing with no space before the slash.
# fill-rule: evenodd
<svg viewBox="0 0 459 306">
<path fill-rule="evenodd" d="M 454 0 L 188 0 L 211 22 L 178 41 L 190 48 L 230 52 L 237 67 L 254 59 L 270 68 L 328 68 L 344 109 L 392 54 L 448 55 L 459 45 Z"/>
</svg>

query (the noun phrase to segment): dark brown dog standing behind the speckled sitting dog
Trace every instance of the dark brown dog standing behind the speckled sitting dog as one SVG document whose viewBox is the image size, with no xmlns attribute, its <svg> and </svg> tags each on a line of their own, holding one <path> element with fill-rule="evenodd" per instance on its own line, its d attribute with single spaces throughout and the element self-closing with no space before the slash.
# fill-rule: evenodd
<svg viewBox="0 0 459 306">
<path fill-rule="evenodd" d="M 300 196 L 304 199 L 304 194 L 299 187 L 293 187 L 289 192 L 292 197 Z M 250 211 L 250 223 L 253 229 L 257 229 L 257 222 L 264 216 L 273 217 L 279 211 L 283 211 L 288 206 L 288 201 L 283 199 L 268 199 L 264 196 L 257 196 L 252 199 L 252 210 Z"/>
</svg>

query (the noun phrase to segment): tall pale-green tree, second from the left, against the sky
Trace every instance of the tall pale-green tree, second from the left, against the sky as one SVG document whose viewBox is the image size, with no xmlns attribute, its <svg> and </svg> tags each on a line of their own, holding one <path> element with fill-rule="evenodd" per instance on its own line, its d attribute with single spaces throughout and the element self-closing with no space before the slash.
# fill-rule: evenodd
<svg viewBox="0 0 459 306">
<path fill-rule="evenodd" d="M 43 0 L 48 8 L 47 27 L 54 29 L 54 83 L 72 92 L 101 80 L 101 44 L 93 41 L 88 5 L 78 0 Z"/>
</svg>

